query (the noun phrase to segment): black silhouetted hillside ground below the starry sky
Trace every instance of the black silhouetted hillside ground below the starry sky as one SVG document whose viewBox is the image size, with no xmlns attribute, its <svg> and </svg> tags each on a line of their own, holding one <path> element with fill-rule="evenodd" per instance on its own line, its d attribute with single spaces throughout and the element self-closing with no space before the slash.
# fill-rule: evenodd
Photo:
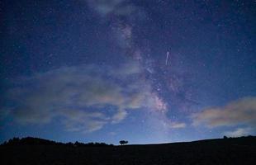
<svg viewBox="0 0 256 165">
<path fill-rule="evenodd" d="M 256 164 L 256 137 L 126 146 L 0 146 L 1 164 Z"/>
</svg>

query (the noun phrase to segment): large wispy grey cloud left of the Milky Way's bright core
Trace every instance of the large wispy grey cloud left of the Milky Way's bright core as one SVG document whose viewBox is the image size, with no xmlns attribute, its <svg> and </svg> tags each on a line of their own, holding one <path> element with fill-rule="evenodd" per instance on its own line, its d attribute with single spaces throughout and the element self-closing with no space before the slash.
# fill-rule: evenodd
<svg viewBox="0 0 256 165">
<path fill-rule="evenodd" d="M 9 106 L 1 115 L 21 125 L 45 125 L 59 119 L 68 131 L 92 132 L 116 124 L 127 112 L 140 108 L 161 110 L 158 96 L 142 79 L 140 64 L 63 67 L 16 79 L 6 93 Z M 2 118 L 3 116 L 1 116 Z"/>
</svg>

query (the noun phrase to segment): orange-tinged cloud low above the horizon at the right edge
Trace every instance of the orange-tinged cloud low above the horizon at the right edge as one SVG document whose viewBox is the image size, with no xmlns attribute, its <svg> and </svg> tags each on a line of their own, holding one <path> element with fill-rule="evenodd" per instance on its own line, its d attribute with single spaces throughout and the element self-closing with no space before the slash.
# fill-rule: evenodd
<svg viewBox="0 0 256 165">
<path fill-rule="evenodd" d="M 256 125 L 256 97 L 244 97 L 226 106 L 208 108 L 192 114 L 192 125 L 218 126 Z"/>
</svg>

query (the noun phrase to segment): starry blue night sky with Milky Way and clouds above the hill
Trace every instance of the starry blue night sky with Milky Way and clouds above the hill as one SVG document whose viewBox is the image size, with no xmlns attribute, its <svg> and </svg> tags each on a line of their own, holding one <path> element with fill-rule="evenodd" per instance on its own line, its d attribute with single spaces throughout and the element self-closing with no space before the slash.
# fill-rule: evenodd
<svg viewBox="0 0 256 165">
<path fill-rule="evenodd" d="M 7 0 L 0 142 L 256 135 L 253 0 Z"/>
</svg>

